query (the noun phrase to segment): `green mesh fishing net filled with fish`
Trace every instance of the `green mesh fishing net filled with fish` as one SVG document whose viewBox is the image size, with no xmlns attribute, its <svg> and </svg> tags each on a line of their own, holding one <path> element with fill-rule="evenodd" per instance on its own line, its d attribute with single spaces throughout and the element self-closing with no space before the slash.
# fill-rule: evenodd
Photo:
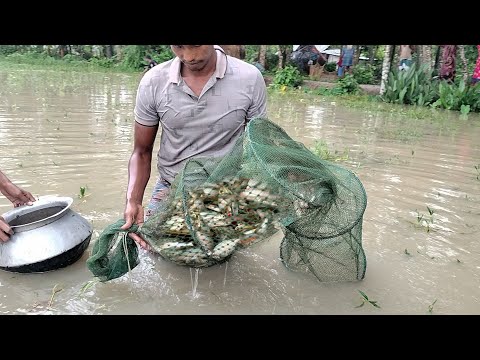
<svg viewBox="0 0 480 360">
<path fill-rule="evenodd" d="M 188 160 L 155 214 L 128 231 L 164 259 L 196 268 L 220 264 L 282 231 L 280 258 L 287 268 L 320 281 L 351 281 L 365 276 L 366 205 L 355 174 L 257 118 L 226 156 Z M 123 224 L 107 227 L 87 260 L 101 281 L 139 263 Z"/>
</svg>

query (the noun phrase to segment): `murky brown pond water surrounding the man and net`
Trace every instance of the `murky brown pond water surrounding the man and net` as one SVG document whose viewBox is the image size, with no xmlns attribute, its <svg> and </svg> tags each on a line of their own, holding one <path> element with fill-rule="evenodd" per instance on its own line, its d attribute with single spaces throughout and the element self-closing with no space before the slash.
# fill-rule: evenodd
<svg viewBox="0 0 480 360">
<path fill-rule="evenodd" d="M 138 80 L 0 71 L 1 170 L 36 196 L 74 198 L 72 208 L 93 223 L 93 241 L 122 217 Z M 198 271 L 142 252 L 137 268 L 105 284 L 88 283 L 88 253 L 50 273 L 0 272 L 0 313 L 427 314 L 435 299 L 433 313 L 480 313 L 479 116 L 373 108 L 309 95 L 269 97 L 271 120 L 307 147 L 323 140 L 331 153 L 346 152 L 341 164 L 363 182 L 363 281 L 320 283 L 286 269 L 278 233 Z M 10 206 L 0 198 L 0 213 Z M 381 309 L 355 308 L 358 290 Z"/>
</svg>

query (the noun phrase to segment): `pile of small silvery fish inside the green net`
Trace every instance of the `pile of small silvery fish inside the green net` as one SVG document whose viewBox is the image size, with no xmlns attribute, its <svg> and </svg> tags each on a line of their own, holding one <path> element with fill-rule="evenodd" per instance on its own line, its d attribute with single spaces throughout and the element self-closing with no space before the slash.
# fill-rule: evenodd
<svg viewBox="0 0 480 360">
<path fill-rule="evenodd" d="M 218 264 L 260 240 L 278 209 L 278 196 L 251 179 L 204 183 L 186 194 L 147 241 L 164 258 L 192 267 Z"/>
</svg>

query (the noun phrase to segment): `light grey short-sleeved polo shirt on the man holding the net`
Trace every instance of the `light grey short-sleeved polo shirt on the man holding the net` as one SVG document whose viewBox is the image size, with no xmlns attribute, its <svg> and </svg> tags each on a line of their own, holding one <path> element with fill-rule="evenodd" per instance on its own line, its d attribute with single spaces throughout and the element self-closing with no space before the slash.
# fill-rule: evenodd
<svg viewBox="0 0 480 360">
<path fill-rule="evenodd" d="M 177 57 L 148 71 L 137 91 L 135 121 L 160 124 L 158 171 L 172 182 L 190 157 L 224 156 L 247 121 L 266 117 L 266 85 L 260 71 L 225 55 L 219 46 L 216 69 L 200 96 L 180 74 Z"/>
</svg>

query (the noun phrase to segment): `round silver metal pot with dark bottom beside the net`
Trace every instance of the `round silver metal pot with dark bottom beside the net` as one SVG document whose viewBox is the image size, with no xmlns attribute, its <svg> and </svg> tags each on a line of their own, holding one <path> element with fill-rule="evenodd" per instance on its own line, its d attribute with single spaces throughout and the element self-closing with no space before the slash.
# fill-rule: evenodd
<svg viewBox="0 0 480 360">
<path fill-rule="evenodd" d="M 92 225 L 70 209 L 73 199 L 45 196 L 21 206 L 3 218 L 13 229 L 10 240 L 0 243 L 0 269 L 45 272 L 77 261 L 92 237 Z"/>
</svg>

